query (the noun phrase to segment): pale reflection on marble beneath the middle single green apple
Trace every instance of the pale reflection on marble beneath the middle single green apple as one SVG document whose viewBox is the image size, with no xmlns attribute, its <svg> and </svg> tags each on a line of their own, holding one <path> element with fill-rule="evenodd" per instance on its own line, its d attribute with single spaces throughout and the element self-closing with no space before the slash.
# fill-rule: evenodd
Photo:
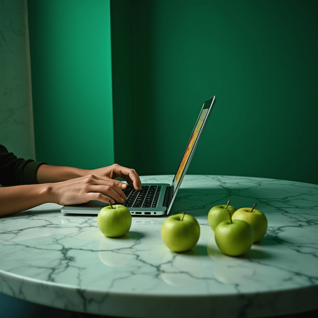
<svg viewBox="0 0 318 318">
<path fill-rule="evenodd" d="M 187 286 L 202 275 L 202 260 L 193 250 L 182 253 L 169 251 L 162 259 L 161 278 L 172 286 Z"/>
</svg>

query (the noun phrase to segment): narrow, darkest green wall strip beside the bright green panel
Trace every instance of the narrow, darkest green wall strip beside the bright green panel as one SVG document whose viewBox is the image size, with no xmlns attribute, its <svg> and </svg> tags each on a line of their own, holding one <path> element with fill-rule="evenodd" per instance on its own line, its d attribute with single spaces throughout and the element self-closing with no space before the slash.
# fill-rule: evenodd
<svg viewBox="0 0 318 318">
<path fill-rule="evenodd" d="M 140 123 L 135 118 L 134 11 L 133 1 L 110 2 L 114 160 L 129 168 L 139 163 L 135 139 L 140 135 Z"/>
</svg>

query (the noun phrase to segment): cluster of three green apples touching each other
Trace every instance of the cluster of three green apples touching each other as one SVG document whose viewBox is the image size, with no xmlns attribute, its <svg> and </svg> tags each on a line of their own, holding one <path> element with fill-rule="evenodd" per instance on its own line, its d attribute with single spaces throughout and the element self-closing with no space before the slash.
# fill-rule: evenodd
<svg viewBox="0 0 318 318">
<path fill-rule="evenodd" d="M 254 242 L 264 237 L 267 231 L 267 218 L 259 210 L 240 208 L 236 210 L 227 205 L 211 208 L 208 221 L 215 234 L 215 241 L 224 254 L 231 256 L 247 252 Z"/>
</svg>

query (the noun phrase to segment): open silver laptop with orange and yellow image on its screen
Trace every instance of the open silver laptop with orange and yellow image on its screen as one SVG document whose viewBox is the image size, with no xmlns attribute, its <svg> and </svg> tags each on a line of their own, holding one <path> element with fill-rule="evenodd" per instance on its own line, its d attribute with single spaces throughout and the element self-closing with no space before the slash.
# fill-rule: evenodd
<svg viewBox="0 0 318 318">
<path fill-rule="evenodd" d="M 131 215 L 169 214 L 214 103 L 215 96 L 204 102 L 171 185 L 168 183 L 142 183 L 140 191 L 136 191 L 131 185 L 127 185 L 127 188 L 123 190 L 127 197 L 123 205 L 128 208 Z M 119 203 L 115 201 L 114 204 Z M 84 204 L 65 205 L 60 211 L 62 213 L 98 214 L 100 209 L 107 205 L 109 204 L 92 200 Z"/>
</svg>

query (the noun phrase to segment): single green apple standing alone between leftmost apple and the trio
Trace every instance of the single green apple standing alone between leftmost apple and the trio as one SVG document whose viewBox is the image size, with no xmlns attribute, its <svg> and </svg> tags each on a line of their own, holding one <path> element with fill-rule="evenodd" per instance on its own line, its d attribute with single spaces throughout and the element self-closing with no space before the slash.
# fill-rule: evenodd
<svg viewBox="0 0 318 318">
<path fill-rule="evenodd" d="M 161 227 L 163 243 L 172 252 L 184 252 L 192 249 L 199 240 L 200 225 L 189 214 L 179 213 L 170 215 Z"/>
</svg>

